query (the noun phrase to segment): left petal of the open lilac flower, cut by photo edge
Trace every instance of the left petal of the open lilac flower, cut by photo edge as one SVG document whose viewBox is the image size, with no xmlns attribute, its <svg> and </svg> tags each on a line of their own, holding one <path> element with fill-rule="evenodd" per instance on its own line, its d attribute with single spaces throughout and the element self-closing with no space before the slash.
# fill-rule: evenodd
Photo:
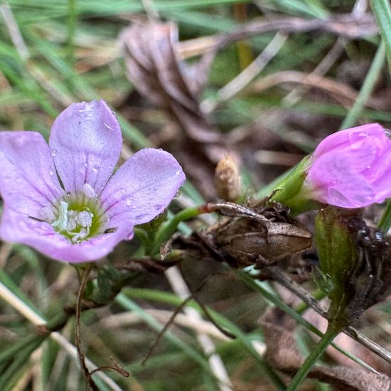
<svg viewBox="0 0 391 391">
<path fill-rule="evenodd" d="M 5 205 L 44 218 L 64 191 L 58 183 L 50 149 L 36 132 L 0 132 L 0 193 Z"/>
</svg>

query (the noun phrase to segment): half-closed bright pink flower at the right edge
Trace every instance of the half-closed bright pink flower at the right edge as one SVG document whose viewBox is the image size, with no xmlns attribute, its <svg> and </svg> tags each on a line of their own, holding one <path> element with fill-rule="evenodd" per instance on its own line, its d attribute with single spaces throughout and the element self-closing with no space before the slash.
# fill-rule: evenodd
<svg viewBox="0 0 391 391">
<path fill-rule="evenodd" d="M 331 134 L 310 164 L 304 189 L 321 203 L 362 208 L 391 197 L 391 140 L 380 124 Z"/>
</svg>

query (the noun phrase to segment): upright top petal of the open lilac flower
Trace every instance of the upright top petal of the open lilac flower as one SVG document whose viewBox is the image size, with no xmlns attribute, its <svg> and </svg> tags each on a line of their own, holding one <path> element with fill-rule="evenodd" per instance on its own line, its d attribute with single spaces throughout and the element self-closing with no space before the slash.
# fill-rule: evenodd
<svg viewBox="0 0 391 391">
<path fill-rule="evenodd" d="M 100 195 L 121 152 L 121 129 L 102 100 L 74 103 L 55 119 L 49 145 L 65 191 L 87 183 Z"/>
</svg>

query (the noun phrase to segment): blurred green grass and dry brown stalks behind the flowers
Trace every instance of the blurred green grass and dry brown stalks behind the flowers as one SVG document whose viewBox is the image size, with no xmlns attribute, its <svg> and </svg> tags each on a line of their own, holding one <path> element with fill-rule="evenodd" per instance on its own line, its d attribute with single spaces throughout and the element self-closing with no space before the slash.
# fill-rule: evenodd
<svg viewBox="0 0 391 391">
<path fill-rule="evenodd" d="M 374 4 L 381 8 L 386 2 Z M 387 4 L 385 10 L 389 11 Z M 348 19 L 339 20 L 341 14 Z M 185 168 L 188 182 L 173 202 L 173 211 L 215 199 L 213 168 L 227 151 L 240 165 L 247 195 L 267 194 L 267 183 L 309 154 L 327 134 L 368 122 L 391 126 L 386 61 L 390 41 L 386 32 L 386 44 L 380 43 L 371 15 L 365 0 L 2 1 L 0 129 L 34 130 L 48 138 L 53 119 L 65 107 L 103 99 L 117 112 L 122 125 L 122 159 L 144 146 L 156 146 L 171 151 Z M 279 21 L 277 27 L 261 33 L 259 26 L 270 18 Z M 336 18 L 334 27 L 323 23 L 330 18 Z M 203 79 L 196 92 L 188 92 L 196 114 L 191 121 L 201 121 L 203 132 L 186 128 L 184 117 L 173 112 L 175 106 L 165 107 L 164 97 L 158 97 L 157 104 L 149 100 L 143 92 L 148 78 L 130 77 L 133 82 L 129 81 L 129 55 L 142 60 L 142 53 L 139 57 L 136 52 L 129 54 L 124 50 L 127 38 L 119 36 L 125 28 L 143 26 L 148 20 L 171 21 L 178 28 L 178 41 L 175 37 L 171 41 L 175 55 L 171 60 L 186 72 L 186 80 Z M 310 20 L 318 25 L 300 28 Z M 257 26 L 256 33 L 248 33 L 251 23 Z M 240 39 L 227 36 L 235 31 L 247 33 Z M 143 42 L 147 32 L 139 34 Z M 168 55 L 164 48 L 159 50 Z M 208 53 L 213 53 L 211 63 Z M 200 58 L 207 65 L 198 66 L 203 65 Z M 155 65 L 159 71 L 159 58 Z M 151 77 L 159 79 L 156 74 Z M 160 82 L 159 88 L 164 88 L 164 80 Z M 166 82 L 175 85 L 175 80 Z M 368 210 L 368 219 L 376 220 L 379 215 L 380 207 Z M 197 220 L 181 225 L 181 231 L 188 234 L 210 223 L 213 218 Z M 138 240 L 120 245 L 109 261 L 136 256 L 139 245 Z M 277 284 L 254 283 L 247 274 L 223 264 L 188 259 L 181 264 L 181 272 L 183 279 L 177 274 L 134 272 L 132 282 L 112 304 L 83 312 L 82 342 L 87 357 L 98 367 L 112 366 L 112 357 L 130 374 L 95 373 L 98 387 L 282 389 L 281 375 L 275 372 L 278 365 L 268 364 L 263 357 L 266 345 L 259 317 L 272 306 L 289 312 L 284 301 L 299 303 L 293 303 Z M 235 338 L 218 331 L 191 301 L 204 318 L 188 311 L 180 314 L 143 364 L 157 333 L 188 295 L 186 290 L 181 293 L 183 280 L 186 289 L 212 309 L 215 321 Z M 37 328 L 74 303 L 79 286 L 75 268 L 45 259 L 23 245 L 2 243 L 0 283 L 0 390 L 84 389 L 72 314 L 58 323 L 58 333 L 48 336 Z M 316 290 L 311 282 L 306 288 Z M 306 355 L 314 334 L 302 317 L 304 310 L 292 310 L 290 316 L 297 321 L 295 341 Z M 385 347 L 390 345 L 390 311 L 390 304 L 380 303 L 358 324 Z M 321 319 L 308 318 L 322 327 Z M 221 359 L 220 380 L 200 342 L 203 336 L 208 336 Z M 356 361 L 363 359 L 391 375 L 385 361 L 365 348 L 348 339 L 341 346 Z M 335 350 L 326 357 L 327 363 L 362 368 Z M 330 387 L 309 380 L 303 389 Z"/>
</svg>

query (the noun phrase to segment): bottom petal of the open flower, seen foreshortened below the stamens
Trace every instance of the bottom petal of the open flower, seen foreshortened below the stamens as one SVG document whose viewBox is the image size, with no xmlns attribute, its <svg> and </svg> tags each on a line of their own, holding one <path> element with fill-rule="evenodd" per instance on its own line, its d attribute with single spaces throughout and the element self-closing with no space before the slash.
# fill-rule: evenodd
<svg viewBox="0 0 391 391">
<path fill-rule="evenodd" d="M 1 217 L 0 236 L 7 242 L 18 242 L 31 246 L 44 255 L 63 262 L 89 262 L 105 257 L 121 240 L 132 236 L 133 226 L 127 225 L 115 232 L 102 234 L 79 244 L 68 242 L 42 223 L 4 208 Z"/>
</svg>

